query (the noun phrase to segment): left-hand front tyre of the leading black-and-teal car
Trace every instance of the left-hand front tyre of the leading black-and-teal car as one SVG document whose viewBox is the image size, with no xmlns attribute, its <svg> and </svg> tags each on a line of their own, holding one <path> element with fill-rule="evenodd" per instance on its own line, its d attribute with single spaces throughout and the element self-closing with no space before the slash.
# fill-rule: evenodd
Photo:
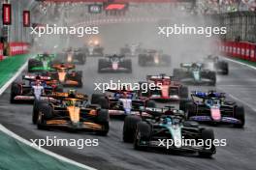
<svg viewBox="0 0 256 170">
<path fill-rule="evenodd" d="M 151 128 L 144 122 L 139 122 L 136 128 L 136 134 L 134 139 L 134 149 L 144 150 L 146 146 L 141 145 L 142 141 L 148 141 L 151 134 Z"/>
</svg>

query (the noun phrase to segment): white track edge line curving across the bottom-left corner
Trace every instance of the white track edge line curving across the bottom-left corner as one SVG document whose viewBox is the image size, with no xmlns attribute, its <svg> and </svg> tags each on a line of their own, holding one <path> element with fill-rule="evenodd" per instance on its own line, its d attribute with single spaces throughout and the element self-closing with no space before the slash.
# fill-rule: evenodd
<svg viewBox="0 0 256 170">
<path fill-rule="evenodd" d="M 2 125 L 0 125 L 0 130 L 3 131 L 4 133 L 8 134 L 9 136 L 15 138 L 16 140 L 22 142 L 23 144 L 28 145 L 28 146 L 34 148 L 35 150 L 38 150 L 38 151 L 40 151 L 40 152 L 42 152 L 42 153 L 44 153 L 44 154 L 46 154 L 46 155 L 48 155 L 48 156 L 55 157 L 55 158 L 57 158 L 57 159 L 60 159 L 60 160 L 62 160 L 62 161 L 65 161 L 65 162 L 68 162 L 68 163 L 70 163 L 70 164 L 76 165 L 76 166 L 78 166 L 78 167 L 80 167 L 80 168 L 83 168 L 83 169 L 87 169 L 87 170 L 96 170 L 96 169 L 94 169 L 94 168 L 92 168 L 92 167 L 86 166 L 86 165 L 84 165 L 84 164 L 81 164 L 81 163 L 79 163 L 79 162 L 77 162 L 77 161 L 74 161 L 74 160 L 72 160 L 72 159 L 69 159 L 69 158 L 67 158 L 67 157 L 59 156 L 59 155 L 57 155 L 57 154 L 55 154 L 55 153 L 52 153 L 52 152 L 48 151 L 47 149 L 44 149 L 44 148 L 40 148 L 40 149 L 39 149 L 37 146 L 31 145 L 31 144 L 32 144 L 31 142 L 29 142 L 29 141 L 25 140 L 24 138 L 18 136 L 16 133 L 14 133 L 13 131 L 9 130 L 8 128 L 5 128 L 5 127 L 2 126 Z"/>
</svg>

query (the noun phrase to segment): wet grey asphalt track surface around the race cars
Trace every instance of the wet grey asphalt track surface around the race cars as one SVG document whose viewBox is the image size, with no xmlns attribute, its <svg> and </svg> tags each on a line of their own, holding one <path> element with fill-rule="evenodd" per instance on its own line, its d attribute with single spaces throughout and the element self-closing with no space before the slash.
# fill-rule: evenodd
<svg viewBox="0 0 256 170">
<path fill-rule="evenodd" d="M 170 68 L 143 68 L 137 66 L 137 58 L 133 58 L 133 73 L 97 73 L 97 59 L 89 58 L 83 71 L 84 87 L 79 92 L 94 93 L 94 82 L 110 82 L 118 79 L 123 82 L 136 82 L 144 79 L 145 74 L 170 72 Z M 46 139 L 56 136 L 60 139 L 99 139 L 98 147 L 48 147 L 48 150 L 67 156 L 86 165 L 98 169 L 255 169 L 256 158 L 256 71 L 229 63 L 230 74 L 217 77 L 218 90 L 230 94 L 245 107 L 246 123 L 243 129 L 227 126 L 211 127 L 215 138 L 227 139 L 227 146 L 218 147 L 212 158 L 199 158 L 193 154 L 174 155 L 166 152 L 139 152 L 131 144 L 122 142 L 122 125 L 120 120 L 111 121 L 111 130 L 107 137 L 95 136 L 86 132 L 68 132 L 62 130 L 38 130 L 31 123 L 32 105 L 10 104 L 10 88 L 0 97 L 0 123 L 26 139 Z M 214 87 L 190 87 L 195 89 L 214 89 Z M 242 102 L 242 103 L 241 103 Z"/>
</svg>

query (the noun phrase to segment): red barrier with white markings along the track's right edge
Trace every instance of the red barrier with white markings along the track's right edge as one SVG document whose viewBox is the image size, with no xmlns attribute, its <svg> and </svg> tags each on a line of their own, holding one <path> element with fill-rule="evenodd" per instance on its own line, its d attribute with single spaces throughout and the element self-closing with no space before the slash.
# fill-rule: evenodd
<svg viewBox="0 0 256 170">
<path fill-rule="evenodd" d="M 256 43 L 251 42 L 218 42 L 222 55 L 256 62 Z"/>
</svg>

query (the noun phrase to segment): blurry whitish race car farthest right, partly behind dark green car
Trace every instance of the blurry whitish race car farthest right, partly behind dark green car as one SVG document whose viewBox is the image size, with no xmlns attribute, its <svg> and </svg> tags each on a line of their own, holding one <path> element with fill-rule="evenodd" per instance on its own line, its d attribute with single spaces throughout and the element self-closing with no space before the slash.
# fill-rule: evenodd
<svg viewBox="0 0 256 170">
<path fill-rule="evenodd" d="M 208 55 L 208 57 L 204 59 L 204 67 L 210 71 L 216 71 L 219 74 L 229 74 L 228 62 L 221 61 L 217 56 Z"/>
</svg>

